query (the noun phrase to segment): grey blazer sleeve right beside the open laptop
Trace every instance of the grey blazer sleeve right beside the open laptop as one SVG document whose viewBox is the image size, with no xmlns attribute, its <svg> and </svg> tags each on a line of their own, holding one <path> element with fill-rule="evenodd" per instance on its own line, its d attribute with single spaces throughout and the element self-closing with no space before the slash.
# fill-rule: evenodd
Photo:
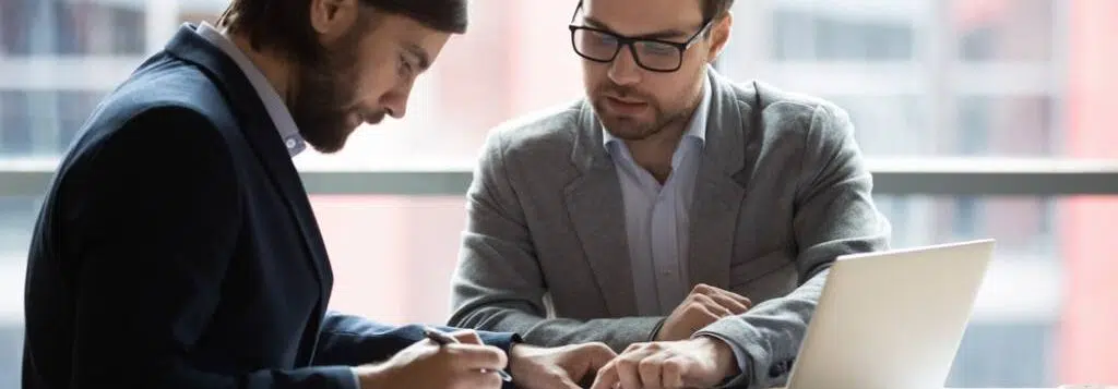
<svg viewBox="0 0 1118 389">
<path fill-rule="evenodd" d="M 846 113 L 831 104 L 817 106 L 804 144 L 793 220 L 800 285 L 697 332 L 729 342 L 745 362 L 741 375 L 728 386 L 766 388 L 784 382 L 831 264 L 843 254 L 888 249 L 890 225 L 873 205 L 873 179 Z"/>
</svg>

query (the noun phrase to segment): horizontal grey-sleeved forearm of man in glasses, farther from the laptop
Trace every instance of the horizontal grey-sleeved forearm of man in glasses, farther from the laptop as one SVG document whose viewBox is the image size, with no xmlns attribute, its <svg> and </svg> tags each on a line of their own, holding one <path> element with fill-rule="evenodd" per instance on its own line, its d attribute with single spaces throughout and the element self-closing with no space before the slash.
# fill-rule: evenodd
<svg viewBox="0 0 1118 389">
<path fill-rule="evenodd" d="M 650 341 L 664 318 L 619 318 L 579 321 L 543 319 L 521 310 L 486 307 L 452 318 L 452 325 L 485 331 L 517 332 L 525 343 L 560 347 L 586 342 L 603 342 L 616 352 L 636 342 Z"/>
</svg>

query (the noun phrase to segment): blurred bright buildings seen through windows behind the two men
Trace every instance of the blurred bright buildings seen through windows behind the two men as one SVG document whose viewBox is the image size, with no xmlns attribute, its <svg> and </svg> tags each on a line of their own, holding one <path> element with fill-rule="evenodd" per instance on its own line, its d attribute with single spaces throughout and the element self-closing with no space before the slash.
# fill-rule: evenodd
<svg viewBox="0 0 1118 389">
<path fill-rule="evenodd" d="M 0 0 L 0 172 L 53 166 L 86 116 L 183 22 L 226 0 Z M 468 169 L 489 128 L 581 96 L 574 0 L 483 0 L 404 120 L 304 169 Z M 1118 159 L 1114 0 L 738 0 L 717 67 L 831 99 L 873 158 Z M 979 159 L 976 159 L 979 161 Z M 980 159 L 986 161 L 986 159 Z M 2 176 L 0 176 L 2 177 Z M 0 181 L 0 187 L 15 185 Z M 949 387 L 1118 383 L 1112 196 L 887 196 L 898 247 L 998 240 Z M 19 386 L 39 198 L 0 197 L 0 389 Z M 332 305 L 442 323 L 464 197 L 314 196 Z M 915 334 L 919 335 L 919 334 Z"/>
</svg>

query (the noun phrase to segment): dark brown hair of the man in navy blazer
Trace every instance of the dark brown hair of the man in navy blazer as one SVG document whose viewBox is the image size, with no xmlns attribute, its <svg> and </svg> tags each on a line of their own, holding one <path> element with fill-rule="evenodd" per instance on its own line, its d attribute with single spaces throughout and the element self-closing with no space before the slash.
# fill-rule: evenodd
<svg viewBox="0 0 1118 389">
<path fill-rule="evenodd" d="M 231 0 L 218 19 L 230 33 L 244 35 L 253 49 L 271 49 L 295 58 L 314 58 L 318 40 L 311 28 L 311 0 Z M 466 0 L 358 0 L 376 12 L 401 14 L 437 31 L 465 33 Z"/>
</svg>

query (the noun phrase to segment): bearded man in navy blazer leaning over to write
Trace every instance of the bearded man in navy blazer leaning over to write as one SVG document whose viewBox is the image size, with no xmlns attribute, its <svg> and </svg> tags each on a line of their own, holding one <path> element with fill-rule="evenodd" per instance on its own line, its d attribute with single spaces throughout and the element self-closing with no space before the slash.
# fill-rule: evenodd
<svg viewBox="0 0 1118 389">
<path fill-rule="evenodd" d="M 574 389 L 608 361 L 604 344 L 447 343 L 325 312 L 330 262 L 291 157 L 402 117 L 465 8 L 233 0 L 218 27 L 183 26 L 97 107 L 47 193 L 22 387 L 473 389 L 508 368 Z"/>
</svg>

